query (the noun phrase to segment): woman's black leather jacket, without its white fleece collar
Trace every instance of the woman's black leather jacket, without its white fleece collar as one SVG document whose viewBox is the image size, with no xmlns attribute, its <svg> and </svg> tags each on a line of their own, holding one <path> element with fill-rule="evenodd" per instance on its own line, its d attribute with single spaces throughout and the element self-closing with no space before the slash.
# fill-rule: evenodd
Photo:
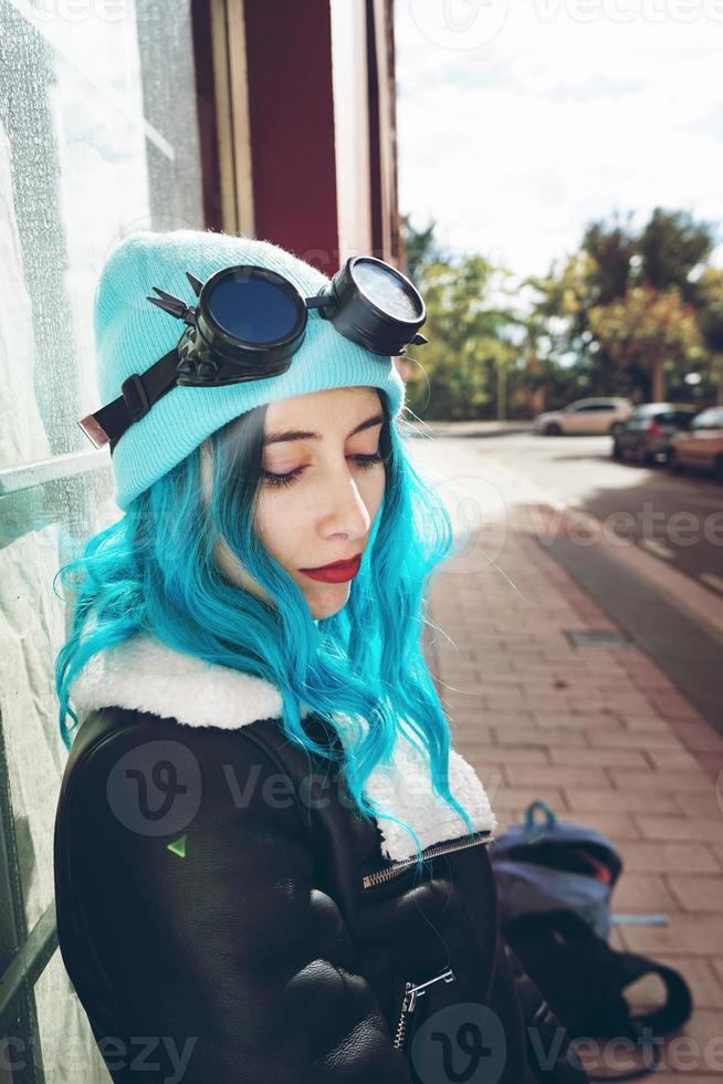
<svg viewBox="0 0 723 1084">
<path fill-rule="evenodd" d="M 440 827 L 419 879 L 277 718 L 188 726 L 105 686 L 116 706 L 87 711 L 65 768 L 54 872 L 114 1081 L 585 1084 L 500 934 L 489 831 Z"/>
</svg>

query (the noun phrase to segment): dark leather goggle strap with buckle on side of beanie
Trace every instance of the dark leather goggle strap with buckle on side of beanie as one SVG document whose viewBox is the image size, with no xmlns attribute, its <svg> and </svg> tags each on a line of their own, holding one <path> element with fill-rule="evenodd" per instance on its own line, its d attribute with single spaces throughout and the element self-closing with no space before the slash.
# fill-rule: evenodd
<svg viewBox="0 0 723 1084">
<path fill-rule="evenodd" d="M 126 429 L 148 414 L 151 406 L 175 386 L 177 364 L 178 348 L 174 346 L 143 375 L 132 373 L 120 385 L 122 394 L 117 399 L 77 423 L 88 440 L 96 448 L 109 444 L 113 454 Z"/>
</svg>

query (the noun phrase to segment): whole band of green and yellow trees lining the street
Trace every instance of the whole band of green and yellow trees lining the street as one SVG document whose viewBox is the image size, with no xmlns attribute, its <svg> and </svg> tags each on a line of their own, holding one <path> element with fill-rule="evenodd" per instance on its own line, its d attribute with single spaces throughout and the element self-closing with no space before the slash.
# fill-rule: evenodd
<svg viewBox="0 0 723 1084">
<path fill-rule="evenodd" d="M 436 222 L 402 219 L 407 274 L 429 342 L 411 347 L 407 399 L 428 419 L 530 418 L 585 395 L 716 402 L 723 273 L 705 265 L 713 223 L 656 208 L 587 226 L 579 250 L 511 284 L 484 256 L 443 249 Z M 701 383 L 685 384 L 695 371 Z"/>
</svg>

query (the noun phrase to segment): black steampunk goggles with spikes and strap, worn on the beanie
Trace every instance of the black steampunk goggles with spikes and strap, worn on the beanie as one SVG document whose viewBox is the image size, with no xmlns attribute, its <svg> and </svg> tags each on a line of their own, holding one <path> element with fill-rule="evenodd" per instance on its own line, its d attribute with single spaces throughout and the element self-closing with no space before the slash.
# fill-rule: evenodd
<svg viewBox="0 0 723 1084">
<path fill-rule="evenodd" d="M 186 272 L 198 304 L 153 289 L 146 300 L 187 326 L 176 346 L 143 374 L 133 373 L 122 394 L 77 421 L 95 448 L 109 444 L 145 417 L 177 385 L 220 387 L 279 376 L 291 366 L 316 309 L 336 331 L 374 354 L 395 356 L 428 342 L 418 334 L 425 302 L 400 271 L 370 256 L 350 257 L 314 298 L 304 298 L 284 275 L 242 263 L 201 282 Z"/>
</svg>

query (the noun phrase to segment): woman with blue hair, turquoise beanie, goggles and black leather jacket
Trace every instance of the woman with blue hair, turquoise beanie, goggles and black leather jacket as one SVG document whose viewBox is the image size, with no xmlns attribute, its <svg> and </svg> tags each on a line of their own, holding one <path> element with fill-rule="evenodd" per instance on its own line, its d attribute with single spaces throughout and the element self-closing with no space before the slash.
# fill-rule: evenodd
<svg viewBox="0 0 723 1084">
<path fill-rule="evenodd" d="M 496 820 L 420 652 L 452 539 L 391 355 L 423 304 L 356 273 L 182 230 L 101 277 L 82 424 L 125 514 L 61 570 L 55 889 L 115 1081 L 586 1081 L 500 936 Z"/>
</svg>

